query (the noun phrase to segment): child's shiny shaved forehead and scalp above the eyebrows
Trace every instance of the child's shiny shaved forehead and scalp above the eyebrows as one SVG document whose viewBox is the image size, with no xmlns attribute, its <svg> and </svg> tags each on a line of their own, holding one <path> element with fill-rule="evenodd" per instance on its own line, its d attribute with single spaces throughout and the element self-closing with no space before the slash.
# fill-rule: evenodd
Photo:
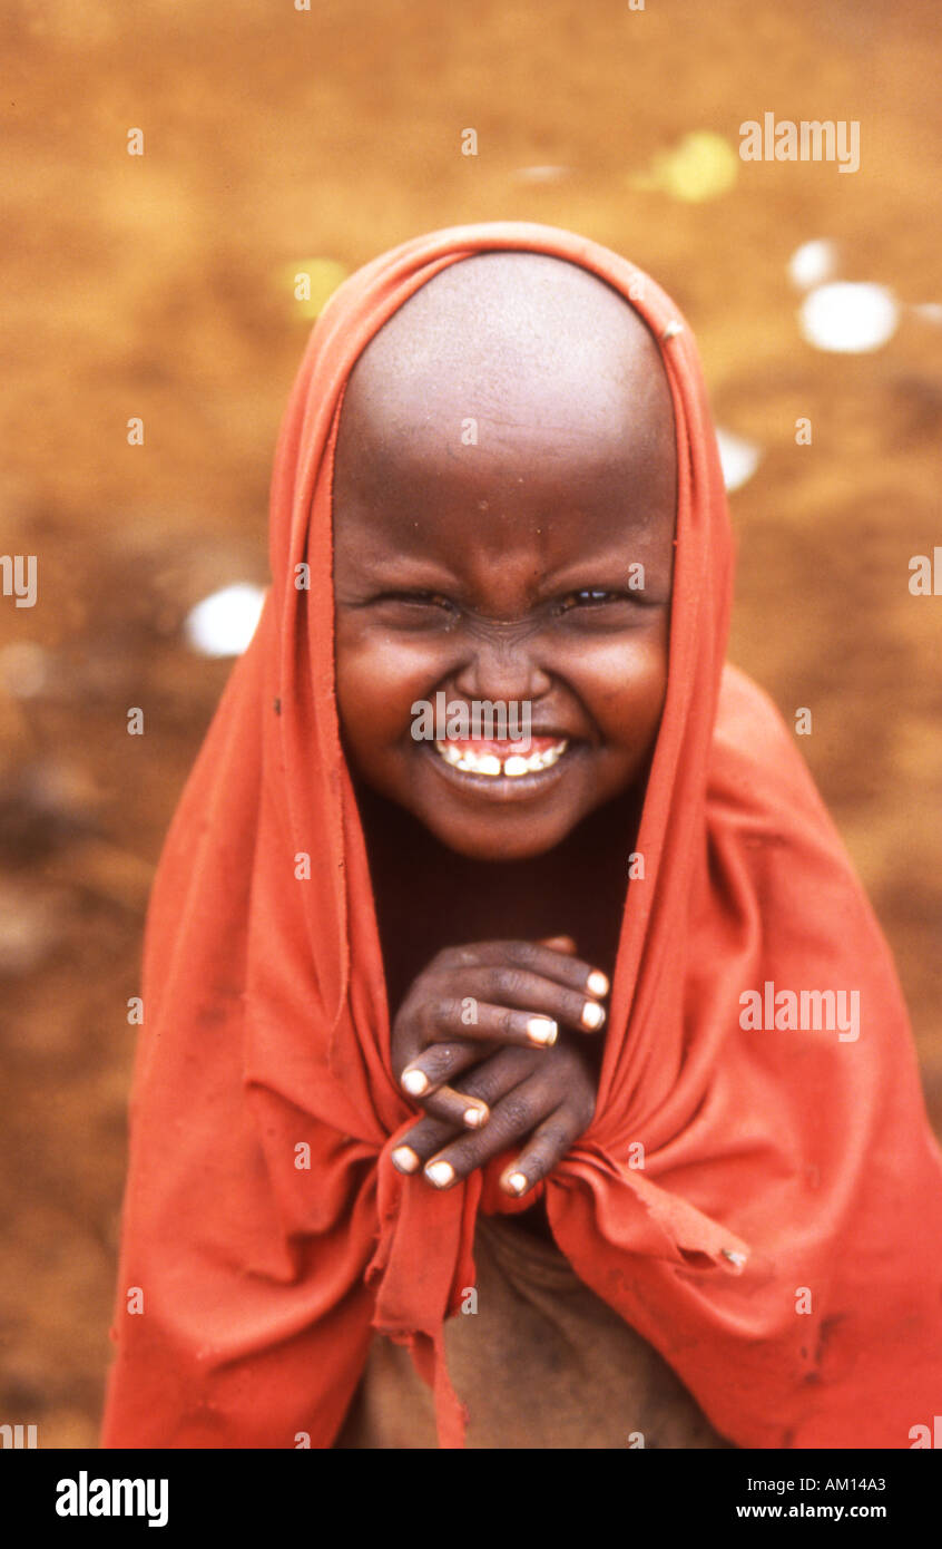
<svg viewBox="0 0 942 1549">
<path fill-rule="evenodd" d="M 340 556 L 552 575 L 673 536 L 671 390 L 611 287 L 537 254 L 438 274 L 351 373 L 334 462 Z M 432 573 L 428 586 L 435 584 Z"/>
</svg>

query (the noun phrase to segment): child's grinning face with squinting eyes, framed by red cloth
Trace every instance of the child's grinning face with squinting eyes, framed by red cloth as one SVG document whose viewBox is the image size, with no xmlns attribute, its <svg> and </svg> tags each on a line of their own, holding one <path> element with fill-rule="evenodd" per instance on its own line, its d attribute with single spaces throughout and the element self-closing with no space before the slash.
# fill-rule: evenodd
<svg viewBox="0 0 942 1549">
<path fill-rule="evenodd" d="M 492 355 L 472 359 L 469 333 L 459 369 L 449 369 L 439 350 L 405 345 L 402 330 L 390 342 L 387 324 L 351 375 L 337 437 L 348 759 L 444 844 L 480 860 L 538 855 L 633 787 L 667 688 L 670 389 L 643 324 L 575 273 L 597 344 L 586 347 L 589 324 L 574 316 L 568 349 L 554 319 L 552 361 L 503 370 Z M 605 294 L 586 293 L 585 280 Z M 408 305 L 391 322 L 405 324 Z M 469 418 L 476 445 L 462 441 Z M 534 737 L 548 739 L 537 748 L 563 751 L 517 778 L 458 770 L 411 733 L 413 705 L 435 705 L 438 692 L 469 709 L 529 702 Z M 478 744 L 478 754 L 515 751 Z"/>
</svg>

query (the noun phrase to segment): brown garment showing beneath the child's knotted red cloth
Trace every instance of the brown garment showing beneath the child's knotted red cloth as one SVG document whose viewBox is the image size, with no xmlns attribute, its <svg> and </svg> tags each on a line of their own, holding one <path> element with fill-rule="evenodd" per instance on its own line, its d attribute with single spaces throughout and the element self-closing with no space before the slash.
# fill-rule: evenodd
<svg viewBox="0 0 942 1549">
<path fill-rule="evenodd" d="M 554 1244 L 507 1218 L 480 1216 L 475 1264 L 478 1310 L 445 1324 L 449 1372 L 469 1410 L 467 1447 L 730 1445 Z M 334 1445 L 438 1447 L 432 1393 L 404 1346 L 373 1337 Z"/>
</svg>

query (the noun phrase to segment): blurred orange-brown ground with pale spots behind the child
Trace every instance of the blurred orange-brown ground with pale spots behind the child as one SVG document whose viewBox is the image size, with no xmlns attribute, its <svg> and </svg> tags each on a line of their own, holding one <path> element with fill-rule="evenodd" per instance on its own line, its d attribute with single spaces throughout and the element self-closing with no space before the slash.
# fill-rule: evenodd
<svg viewBox="0 0 942 1549">
<path fill-rule="evenodd" d="M 422 231 L 568 226 L 690 319 L 732 657 L 812 711 L 942 1131 L 933 0 L 8 0 L 0 36 L 2 548 L 39 564 L 0 596 L 0 1422 L 96 1444 L 153 866 L 266 586 L 311 322 Z M 860 169 L 742 161 L 764 113 L 858 121 Z"/>
</svg>

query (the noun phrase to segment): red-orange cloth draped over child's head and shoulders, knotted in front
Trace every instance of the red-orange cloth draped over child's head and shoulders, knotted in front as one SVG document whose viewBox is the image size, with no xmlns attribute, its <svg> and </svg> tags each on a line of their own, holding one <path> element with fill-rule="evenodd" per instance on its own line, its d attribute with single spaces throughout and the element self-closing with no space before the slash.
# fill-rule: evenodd
<svg viewBox="0 0 942 1549">
<path fill-rule="evenodd" d="M 582 265 L 636 307 L 677 441 L 645 878 L 626 888 L 596 1117 L 538 1185 L 552 1231 L 730 1441 L 908 1447 L 942 1394 L 942 1157 L 869 905 L 792 736 L 722 665 L 732 542 L 696 347 L 634 265 L 510 222 L 359 270 L 291 395 L 271 592 L 150 903 L 104 1445 L 329 1447 L 371 1327 L 411 1346 L 441 1444 L 461 1445 L 442 1321 L 473 1284 L 476 1211 L 520 1202 L 497 1188 L 506 1157 L 447 1193 L 390 1160 L 416 1115 L 339 737 L 331 477 L 368 341 L 447 265 L 506 249 Z M 742 993 L 767 984 L 860 991 L 860 1036 L 741 1027 Z"/>
</svg>

